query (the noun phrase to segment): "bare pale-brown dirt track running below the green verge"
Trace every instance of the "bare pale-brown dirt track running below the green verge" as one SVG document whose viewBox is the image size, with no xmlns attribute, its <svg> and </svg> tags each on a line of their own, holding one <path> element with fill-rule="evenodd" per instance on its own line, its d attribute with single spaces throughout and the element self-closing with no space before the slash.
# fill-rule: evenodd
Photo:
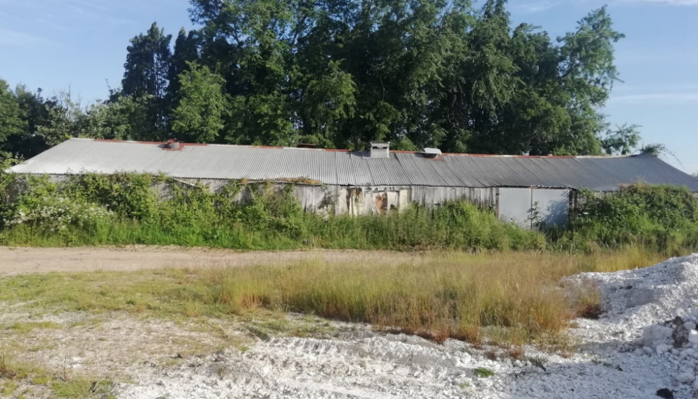
<svg viewBox="0 0 698 399">
<path fill-rule="evenodd" d="M 163 267 L 233 267 L 303 260 L 329 263 L 415 262 L 424 255 L 391 251 L 259 251 L 128 246 L 125 248 L 26 248 L 0 246 L 0 276 L 51 271 L 133 271 Z"/>
</svg>

